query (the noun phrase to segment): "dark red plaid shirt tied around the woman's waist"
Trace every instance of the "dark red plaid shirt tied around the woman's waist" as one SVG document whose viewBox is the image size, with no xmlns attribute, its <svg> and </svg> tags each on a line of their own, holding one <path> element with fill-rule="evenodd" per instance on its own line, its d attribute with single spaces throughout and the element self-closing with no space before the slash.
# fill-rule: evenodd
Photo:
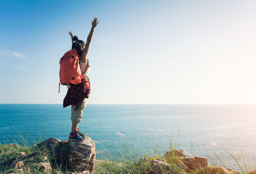
<svg viewBox="0 0 256 174">
<path fill-rule="evenodd" d="M 81 82 L 77 85 L 69 87 L 67 95 L 63 100 L 63 108 L 69 105 L 76 105 L 74 111 L 77 110 L 84 98 L 88 98 L 90 94 L 90 88 L 88 82 Z"/>
</svg>

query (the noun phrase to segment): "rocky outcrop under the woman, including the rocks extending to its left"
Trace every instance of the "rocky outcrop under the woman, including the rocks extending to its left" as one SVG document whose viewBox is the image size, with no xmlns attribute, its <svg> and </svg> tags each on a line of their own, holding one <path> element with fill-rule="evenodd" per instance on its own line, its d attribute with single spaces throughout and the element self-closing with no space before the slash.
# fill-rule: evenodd
<svg viewBox="0 0 256 174">
<path fill-rule="evenodd" d="M 46 151 L 45 153 L 43 151 L 36 151 L 31 154 L 19 152 L 16 158 L 12 158 L 10 161 L 8 161 L 7 166 L 9 166 L 11 169 L 18 169 L 20 172 L 29 172 L 30 169 L 25 167 L 24 162 L 31 159 L 33 160 L 41 158 L 41 160 L 44 162 L 40 162 L 36 166 L 44 173 L 50 174 L 52 171 L 52 167 L 48 162 L 47 156 L 49 155 L 50 151 L 56 150 L 54 149 L 54 147 L 57 144 L 61 143 L 63 143 L 62 145 L 67 145 L 71 149 L 71 158 L 67 159 L 67 154 L 63 155 L 62 153 L 60 153 L 60 155 L 57 156 L 57 160 L 59 162 L 65 164 L 68 169 L 79 170 L 82 171 L 82 173 L 91 173 L 93 171 L 95 167 L 96 152 L 95 143 L 92 142 L 92 139 L 90 137 L 86 137 L 86 139 L 81 142 L 69 142 L 68 140 L 61 141 L 56 138 L 49 138 L 44 142 L 38 144 L 39 147 L 44 146 L 48 151 Z"/>
</svg>

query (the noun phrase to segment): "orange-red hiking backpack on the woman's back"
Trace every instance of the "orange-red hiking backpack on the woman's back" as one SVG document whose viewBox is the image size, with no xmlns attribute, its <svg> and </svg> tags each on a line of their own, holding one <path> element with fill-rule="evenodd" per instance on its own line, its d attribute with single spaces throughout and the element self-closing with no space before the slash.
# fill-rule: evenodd
<svg viewBox="0 0 256 174">
<path fill-rule="evenodd" d="M 59 83 L 59 92 L 60 84 L 70 86 L 70 84 L 78 84 L 83 81 L 88 81 L 89 78 L 85 75 L 88 67 L 89 61 L 87 61 L 87 67 L 84 72 L 81 72 L 79 65 L 79 53 L 76 49 L 72 49 L 66 52 L 60 59 L 60 83 Z"/>
</svg>

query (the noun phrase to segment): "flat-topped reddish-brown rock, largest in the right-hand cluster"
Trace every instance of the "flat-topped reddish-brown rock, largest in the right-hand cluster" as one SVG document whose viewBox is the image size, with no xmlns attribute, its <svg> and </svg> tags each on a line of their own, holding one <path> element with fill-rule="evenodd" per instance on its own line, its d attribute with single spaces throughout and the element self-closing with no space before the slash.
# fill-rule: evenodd
<svg viewBox="0 0 256 174">
<path fill-rule="evenodd" d="M 196 170 L 209 166 L 205 157 L 180 157 L 180 160 L 189 170 Z"/>
</svg>

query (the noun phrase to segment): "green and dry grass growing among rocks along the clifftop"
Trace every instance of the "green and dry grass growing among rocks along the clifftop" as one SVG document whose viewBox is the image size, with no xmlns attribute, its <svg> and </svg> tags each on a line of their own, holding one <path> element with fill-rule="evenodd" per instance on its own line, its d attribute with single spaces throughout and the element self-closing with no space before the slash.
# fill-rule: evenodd
<svg viewBox="0 0 256 174">
<path fill-rule="evenodd" d="M 74 172 L 73 170 L 68 170 L 66 167 L 66 164 L 72 159 L 72 156 L 70 155 L 71 149 L 68 147 L 70 142 L 61 142 L 57 144 L 53 150 L 48 151 L 44 146 L 41 145 L 41 142 L 44 141 L 44 137 L 38 138 L 37 141 L 34 140 L 35 145 L 31 146 L 28 143 L 27 139 L 23 138 L 21 133 L 17 133 L 18 136 L 16 136 L 16 138 L 19 140 L 19 143 L 21 145 L 18 145 L 17 143 L 0 145 L 0 173 L 20 173 L 18 169 L 10 169 L 10 167 L 8 166 L 9 161 L 17 157 L 19 152 L 30 154 L 35 151 L 42 151 L 42 154 L 36 159 L 28 159 L 27 157 L 26 160 L 23 160 L 24 167 L 30 169 L 30 172 L 24 173 L 44 173 L 42 169 L 40 169 L 36 164 L 45 161 L 49 161 L 49 163 L 51 164 L 52 173 L 60 174 Z M 138 147 L 134 144 L 132 138 L 126 138 L 124 135 L 120 133 L 118 134 L 123 139 L 124 145 L 120 145 L 119 143 L 110 140 L 102 140 L 100 144 L 97 144 L 97 146 L 103 146 L 105 150 L 97 150 L 97 156 L 100 156 L 101 159 L 96 160 L 96 166 L 94 168 L 95 174 L 153 174 L 154 172 L 151 169 L 151 161 L 157 159 L 160 159 L 169 164 L 167 168 L 159 167 L 157 169 L 158 173 L 220 174 L 222 172 L 222 169 L 218 168 L 217 166 L 230 168 L 223 160 L 221 160 L 215 154 L 216 158 L 218 158 L 220 161 L 219 163 L 214 162 L 212 157 L 209 155 L 209 157 L 207 158 L 209 159 L 208 163 L 212 162 L 211 167 L 185 172 L 185 167 L 181 163 L 179 157 L 175 156 L 174 154 L 170 155 L 168 158 L 163 157 L 166 151 L 179 149 L 179 143 L 174 143 L 174 139 L 170 138 L 168 134 L 167 136 L 163 134 L 166 138 L 166 142 L 160 142 L 158 136 L 152 133 L 152 141 L 150 141 L 150 139 L 148 138 L 148 149 L 143 149 L 142 146 Z M 115 148 L 109 148 L 106 141 L 108 141 L 108 144 L 110 142 Z M 168 149 L 166 149 L 167 146 Z M 191 144 L 191 148 L 192 147 L 193 145 Z M 207 150 L 206 152 L 208 153 Z M 229 155 L 232 156 L 232 154 L 230 153 Z M 60 156 L 64 157 L 66 161 L 64 161 L 63 163 L 59 162 L 58 158 Z M 47 157 L 47 159 L 45 157 Z M 236 158 L 233 157 L 233 159 L 237 162 Z M 237 162 L 237 165 L 240 168 L 240 173 L 245 174 L 255 169 L 255 166 L 246 164 L 246 160 L 244 157 L 243 159 L 244 164 L 238 164 Z"/>
</svg>

